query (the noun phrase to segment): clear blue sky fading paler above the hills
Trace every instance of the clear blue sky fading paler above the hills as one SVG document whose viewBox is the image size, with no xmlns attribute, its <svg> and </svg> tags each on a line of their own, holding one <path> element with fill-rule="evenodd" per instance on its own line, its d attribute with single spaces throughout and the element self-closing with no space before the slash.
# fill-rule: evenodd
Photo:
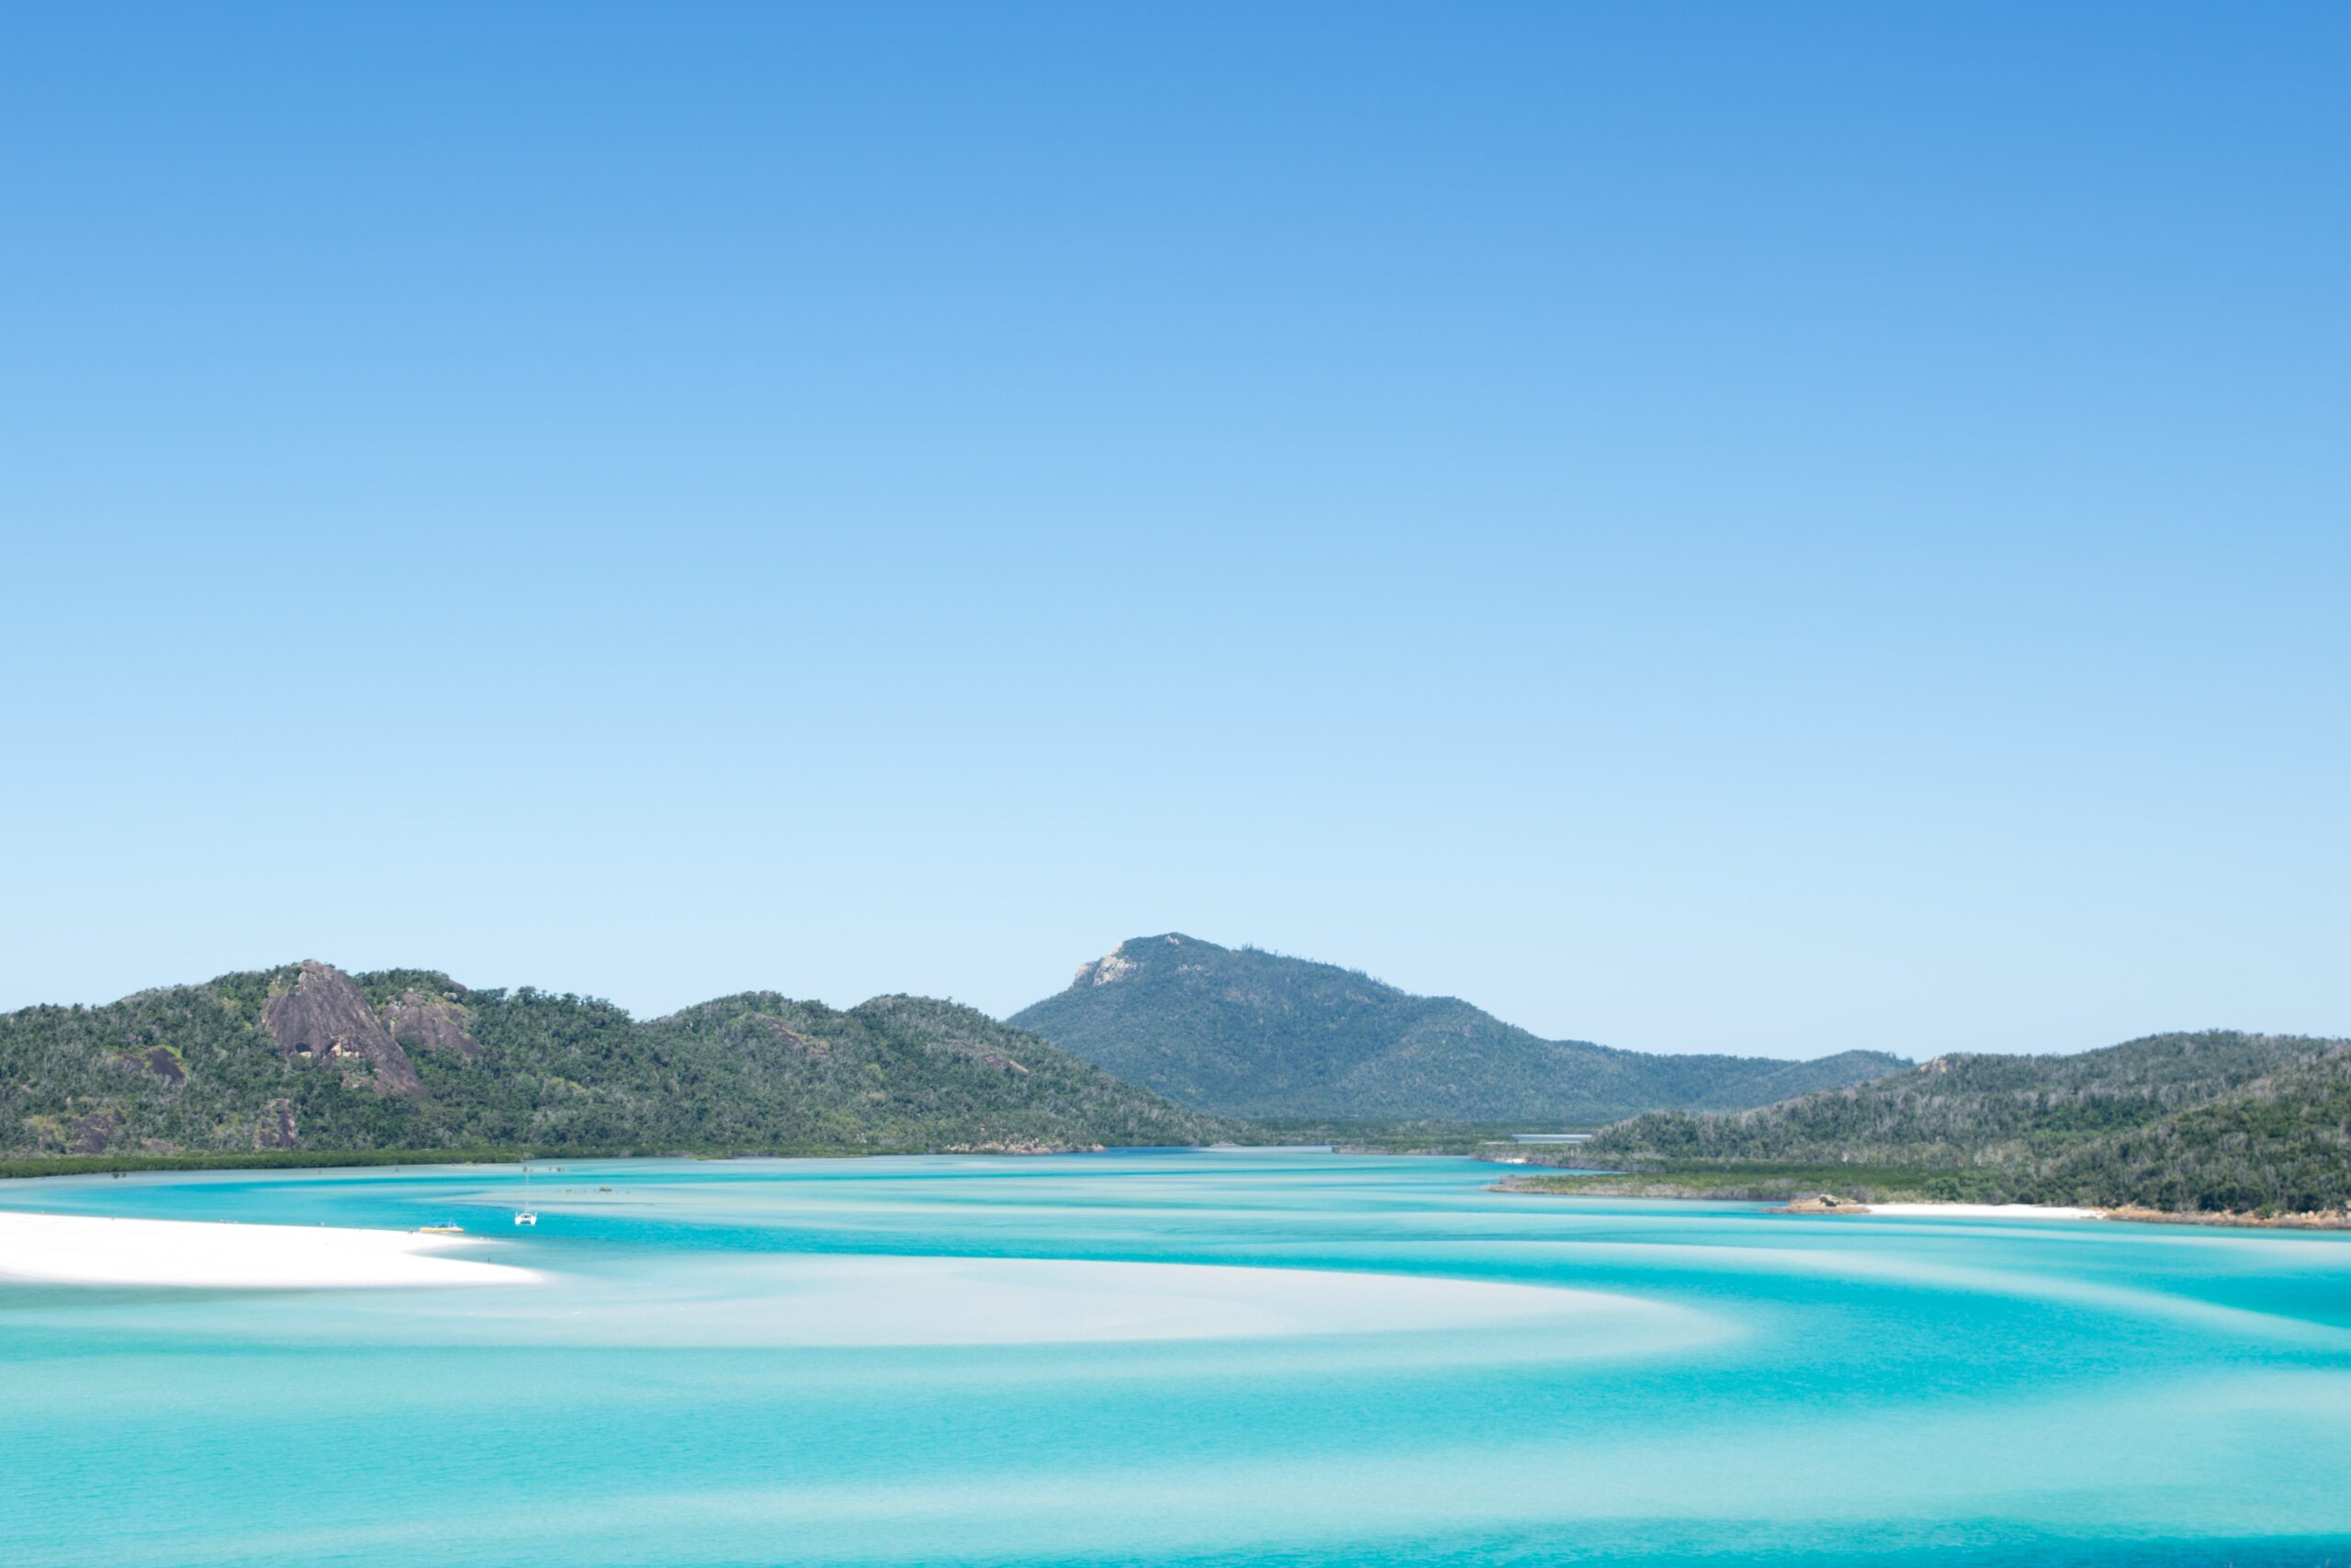
<svg viewBox="0 0 2351 1568">
<path fill-rule="evenodd" d="M 2351 7 L 14 5 L 0 1006 L 2351 1032 Z"/>
</svg>

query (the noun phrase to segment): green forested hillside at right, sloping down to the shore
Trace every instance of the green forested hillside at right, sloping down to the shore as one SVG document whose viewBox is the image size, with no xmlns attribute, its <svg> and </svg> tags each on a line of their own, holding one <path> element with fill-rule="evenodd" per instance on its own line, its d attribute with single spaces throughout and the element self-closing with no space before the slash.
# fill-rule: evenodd
<svg viewBox="0 0 2351 1568">
<path fill-rule="evenodd" d="M 1655 1175 L 1759 1161 L 1907 1171 L 1989 1201 L 2344 1208 L 2351 1041 L 2215 1030 L 2081 1056 L 1942 1056 L 1766 1110 L 1636 1117 L 1578 1157 Z"/>
</svg>

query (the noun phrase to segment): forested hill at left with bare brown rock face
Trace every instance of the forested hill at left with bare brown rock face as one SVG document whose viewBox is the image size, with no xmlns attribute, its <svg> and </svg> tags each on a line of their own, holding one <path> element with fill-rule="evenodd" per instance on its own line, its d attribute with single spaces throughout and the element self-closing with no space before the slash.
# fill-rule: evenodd
<svg viewBox="0 0 2351 1568">
<path fill-rule="evenodd" d="M 950 1150 L 1201 1143 L 1218 1124 L 922 997 L 588 997 L 324 964 L 0 1016 L 0 1154 Z"/>
</svg>

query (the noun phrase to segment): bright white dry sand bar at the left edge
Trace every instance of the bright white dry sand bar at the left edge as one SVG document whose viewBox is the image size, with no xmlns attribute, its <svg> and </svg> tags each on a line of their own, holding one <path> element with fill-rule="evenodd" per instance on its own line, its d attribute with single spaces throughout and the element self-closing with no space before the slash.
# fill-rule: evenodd
<svg viewBox="0 0 2351 1568">
<path fill-rule="evenodd" d="M 505 1286 L 534 1269 L 437 1258 L 473 1237 L 0 1211 L 0 1279 L 92 1286 Z"/>
</svg>

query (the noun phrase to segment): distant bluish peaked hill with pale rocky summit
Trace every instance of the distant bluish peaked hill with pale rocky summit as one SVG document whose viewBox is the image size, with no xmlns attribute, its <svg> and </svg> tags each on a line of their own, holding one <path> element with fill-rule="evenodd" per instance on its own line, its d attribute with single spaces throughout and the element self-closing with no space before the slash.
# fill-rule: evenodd
<svg viewBox="0 0 2351 1568">
<path fill-rule="evenodd" d="M 1119 943 L 1011 1023 L 1232 1117 L 1596 1124 L 1766 1105 L 1909 1065 L 1878 1051 L 1787 1063 L 1540 1039 L 1453 997 L 1176 933 Z"/>
</svg>

